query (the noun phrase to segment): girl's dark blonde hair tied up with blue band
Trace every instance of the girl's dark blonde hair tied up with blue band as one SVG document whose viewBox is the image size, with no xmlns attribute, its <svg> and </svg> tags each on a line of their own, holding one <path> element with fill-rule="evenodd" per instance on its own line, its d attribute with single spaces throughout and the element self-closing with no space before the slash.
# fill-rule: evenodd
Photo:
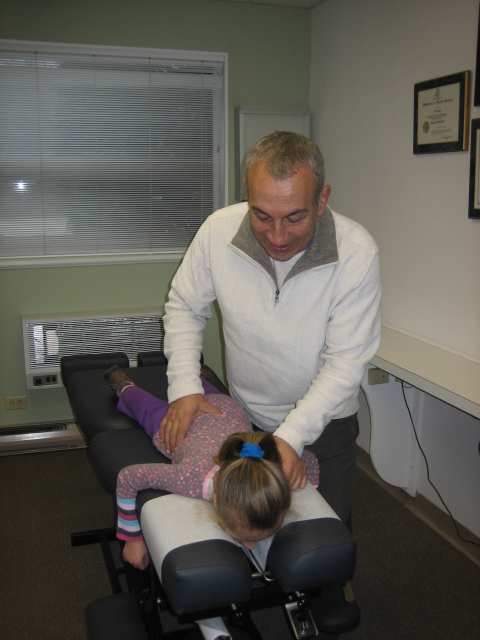
<svg viewBox="0 0 480 640">
<path fill-rule="evenodd" d="M 259 445 L 263 457 L 241 458 L 243 445 Z M 245 527 L 272 534 L 281 526 L 290 508 L 290 487 L 282 471 L 282 460 L 271 433 L 234 433 L 222 444 L 215 462 L 217 520 L 223 529 Z"/>
</svg>

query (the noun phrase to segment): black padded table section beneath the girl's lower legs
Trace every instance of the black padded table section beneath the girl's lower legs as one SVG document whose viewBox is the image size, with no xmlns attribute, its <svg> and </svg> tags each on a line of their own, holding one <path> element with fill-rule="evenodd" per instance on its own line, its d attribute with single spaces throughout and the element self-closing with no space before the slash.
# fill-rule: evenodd
<svg viewBox="0 0 480 640">
<path fill-rule="evenodd" d="M 132 367 L 124 370 L 138 386 L 157 398 L 166 399 L 166 366 Z M 76 371 L 69 376 L 68 398 L 78 425 L 88 441 L 102 431 L 138 428 L 135 420 L 118 411 L 117 399 L 103 379 L 103 371 L 104 369 Z"/>
</svg>

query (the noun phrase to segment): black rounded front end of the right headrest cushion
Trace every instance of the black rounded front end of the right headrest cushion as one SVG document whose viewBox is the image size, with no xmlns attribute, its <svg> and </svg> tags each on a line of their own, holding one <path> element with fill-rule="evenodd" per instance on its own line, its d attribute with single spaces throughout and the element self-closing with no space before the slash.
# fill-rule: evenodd
<svg viewBox="0 0 480 640">
<path fill-rule="evenodd" d="M 306 591 L 350 580 L 356 550 L 356 541 L 337 518 L 290 522 L 273 538 L 267 565 L 283 591 Z"/>
</svg>

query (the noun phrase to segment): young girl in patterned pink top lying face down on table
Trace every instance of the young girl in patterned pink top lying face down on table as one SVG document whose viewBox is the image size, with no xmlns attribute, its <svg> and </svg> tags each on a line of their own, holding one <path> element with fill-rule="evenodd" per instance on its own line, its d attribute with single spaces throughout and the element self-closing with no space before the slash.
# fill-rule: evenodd
<svg viewBox="0 0 480 640">
<path fill-rule="evenodd" d="M 142 489 L 213 501 L 220 526 L 248 549 L 280 528 L 291 496 L 275 439 L 267 432 L 253 432 L 236 400 L 221 394 L 202 376 L 206 399 L 223 415 L 197 416 L 170 456 L 158 433 L 168 403 L 137 387 L 117 366 L 106 371 L 104 378 L 118 397 L 119 411 L 137 420 L 155 447 L 172 461 L 133 465 L 118 475 L 117 537 L 126 542 L 123 557 L 127 562 L 139 569 L 149 563 L 135 510 Z M 302 460 L 308 479 L 317 486 L 316 457 L 305 451 Z"/>
</svg>

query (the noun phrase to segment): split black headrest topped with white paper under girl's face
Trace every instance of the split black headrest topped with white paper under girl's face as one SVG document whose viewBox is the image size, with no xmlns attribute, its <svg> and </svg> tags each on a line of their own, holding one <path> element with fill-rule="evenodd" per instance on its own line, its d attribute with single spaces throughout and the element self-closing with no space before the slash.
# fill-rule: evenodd
<svg viewBox="0 0 480 640">
<path fill-rule="evenodd" d="M 342 584 L 355 569 L 356 542 L 320 494 L 310 485 L 292 495 L 285 526 L 257 544 L 258 563 L 277 579 L 285 593 Z M 250 583 L 244 562 L 223 566 L 220 549 L 236 558 L 242 547 L 214 519 L 213 505 L 168 495 L 147 502 L 141 526 L 150 557 L 175 612 L 192 613 L 240 602 Z M 207 545 L 207 543 L 209 543 Z M 210 545 L 212 545 L 210 549 Z M 210 555 L 211 551 L 211 557 Z M 228 559 L 231 562 L 231 559 Z M 244 573 L 245 571 L 245 573 Z M 208 585 L 206 592 L 205 585 Z"/>
</svg>

